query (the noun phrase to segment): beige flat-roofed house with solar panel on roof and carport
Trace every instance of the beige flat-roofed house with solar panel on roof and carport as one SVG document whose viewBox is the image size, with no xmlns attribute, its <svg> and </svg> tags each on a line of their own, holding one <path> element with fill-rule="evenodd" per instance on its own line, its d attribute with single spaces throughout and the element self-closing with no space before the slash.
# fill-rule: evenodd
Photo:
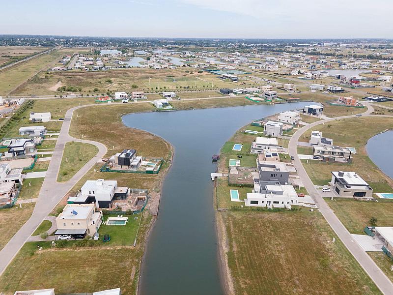
<svg viewBox="0 0 393 295">
<path fill-rule="evenodd" d="M 102 211 L 96 210 L 94 204 L 67 204 L 63 212 L 56 217 L 59 235 L 94 236 L 102 223 Z"/>
</svg>

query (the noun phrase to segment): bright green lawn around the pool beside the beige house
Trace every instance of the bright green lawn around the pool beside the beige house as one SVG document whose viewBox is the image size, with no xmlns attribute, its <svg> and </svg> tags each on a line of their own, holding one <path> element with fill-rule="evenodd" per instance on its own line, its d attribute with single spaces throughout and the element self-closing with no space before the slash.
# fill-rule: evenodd
<svg viewBox="0 0 393 295">
<path fill-rule="evenodd" d="M 107 221 L 109 217 L 116 217 L 117 215 L 109 214 L 104 215 L 104 221 Z M 128 217 L 126 225 L 101 225 L 98 230 L 100 234 L 100 241 L 105 246 L 133 246 L 134 240 L 137 236 L 138 226 L 141 221 L 141 214 L 135 215 L 123 215 Z M 138 219 L 134 219 L 138 218 Z M 111 236 L 109 242 L 103 242 L 102 237 L 108 234 Z"/>
</svg>

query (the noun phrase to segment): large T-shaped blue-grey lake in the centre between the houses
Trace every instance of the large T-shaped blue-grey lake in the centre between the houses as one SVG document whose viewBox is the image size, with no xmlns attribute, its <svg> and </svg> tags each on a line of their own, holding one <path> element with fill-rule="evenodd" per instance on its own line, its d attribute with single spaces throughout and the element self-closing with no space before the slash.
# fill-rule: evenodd
<svg viewBox="0 0 393 295">
<path fill-rule="evenodd" d="M 308 104 L 151 112 L 123 117 L 125 125 L 157 134 L 175 149 L 162 189 L 159 217 L 147 244 L 140 294 L 223 294 L 210 178 L 210 173 L 216 170 L 212 155 L 219 153 L 225 141 L 253 119 Z"/>
</svg>

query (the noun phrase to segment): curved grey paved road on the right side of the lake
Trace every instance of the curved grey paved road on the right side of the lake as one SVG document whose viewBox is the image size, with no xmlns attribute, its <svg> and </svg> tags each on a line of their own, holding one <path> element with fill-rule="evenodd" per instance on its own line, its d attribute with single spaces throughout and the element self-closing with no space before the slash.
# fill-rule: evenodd
<svg viewBox="0 0 393 295">
<path fill-rule="evenodd" d="M 370 105 L 367 105 L 367 111 L 363 113 L 362 116 L 368 117 L 374 115 L 369 115 L 373 108 Z M 294 157 L 293 163 L 298 171 L 299 177 L 301 178 L 304 186 L 306 187 L 307 191 L 311 198 L 315 201 L 315 204 L 318 206 L 319 211 L 322 213 L 323 217 L 335 231 L 337 236 L 340 240 L 344 243 L 347 247 L 349 252 L 355 257 L 355 259 L 359 262 L 359 264 L 364 268 L 365 272 L 370 276 L 370 278 L 374 281 L 377 287 L 381 290 L 381 292 L 385 295 L 393 295 L 393 283 L 392 281 L 385 275 L 385 273 L 375 264 L 375 262 L 368 256 L 368 254 L 362 249 L 359 244 L 354 241 L 351 234 L 348 230 L 344 227 L 341 221 L 337 218 L 336 214 L 330 207 L 326 204 L 323 200 L 322 196 L 318 194 L 314 184 L 312 183 L 311 179 L 309 178 L 306 170 L 303 167 L 302 162 L 299 159 L 297 154 L 297 142 L 299 138 L 302 136 L 304 132 L 313 128 L 316 125 L 323 124 L 329 121 L 342 119 L 342 118 L 354 118 L 355 115 L 352 116 L 343 116 L 337 118 L 329 118 L 321 121 L 317 121 L 311 123 L 307 126 L 302 127 L 297 132 L 294 133 L 291 140 L 289 141 L 289 154 Z M 392 116 L 378 116 L 378 117 L 392 117 Z"/>
</svg>

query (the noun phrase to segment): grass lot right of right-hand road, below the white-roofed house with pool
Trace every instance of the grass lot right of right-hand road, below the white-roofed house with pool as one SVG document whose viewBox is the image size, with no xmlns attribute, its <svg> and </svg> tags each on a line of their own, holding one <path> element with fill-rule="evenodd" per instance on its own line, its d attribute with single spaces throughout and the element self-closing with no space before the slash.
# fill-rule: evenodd
<svg viewBox="0 0 393 295">
<path fill-rule="evenodd" d="M 392 201 L 380 199 L 379 202 L 364 202 L 347 198 L 336 198 L 336 201 L 328 198 L 324 200 L 351 234 L 364 234 L 363 229 L 370 225 L 371 217 L 378 219 L 377 226 L 392 226 Z"/>
</svg>

